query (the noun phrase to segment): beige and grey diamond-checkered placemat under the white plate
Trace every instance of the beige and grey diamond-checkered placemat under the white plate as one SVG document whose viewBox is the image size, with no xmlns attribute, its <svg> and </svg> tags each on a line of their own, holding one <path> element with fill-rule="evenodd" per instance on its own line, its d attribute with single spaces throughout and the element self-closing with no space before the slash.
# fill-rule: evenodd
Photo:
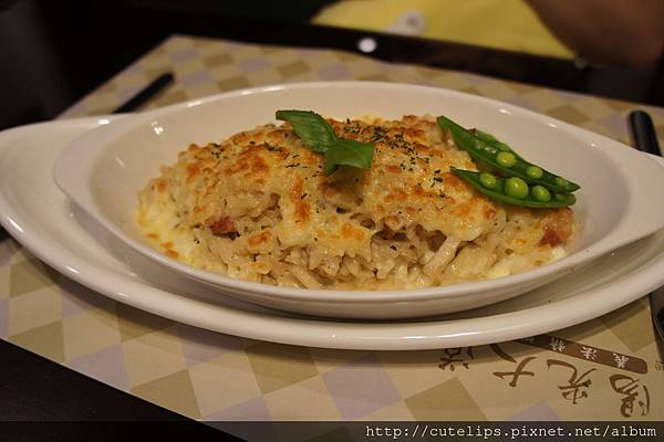
<svg viewBox="0 0 664 442">
<path fill-rule="evenodd" d="M 371 80 L 505 101 L 627 141 L 634 105 L 356 54 L 173 36 L 72 106 L 106 114 L 158 74 L 147 108 L 274 83 Z M 664 138 L 664 109 L 651 113 Z M 646 299 L 520 341 L 344 351 L 206 332 L 115 303 L 0 242 L 0 338 L 197 420 L 663 420 L 664 376 Z M 315 407 L 311 407 L 315 403 Z"/>
</svg>

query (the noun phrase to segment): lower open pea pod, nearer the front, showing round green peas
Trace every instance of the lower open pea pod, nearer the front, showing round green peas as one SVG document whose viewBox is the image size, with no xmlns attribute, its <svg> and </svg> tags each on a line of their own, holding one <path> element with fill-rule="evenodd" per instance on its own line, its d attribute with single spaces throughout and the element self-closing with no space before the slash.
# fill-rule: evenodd
<svg viewBox="0 0 664 442">
<path fill-rule="evenodd" d="M 558 209 L 577 202 L 577 198 L 572 193 L 550 193 L 543 186 L 528 186 L 518 177 L 502 178 L 487 172 L 461 170 L 455 167 L 452 168 L 452 172 L 492 200 L 513 206 Z"/>
</svg>

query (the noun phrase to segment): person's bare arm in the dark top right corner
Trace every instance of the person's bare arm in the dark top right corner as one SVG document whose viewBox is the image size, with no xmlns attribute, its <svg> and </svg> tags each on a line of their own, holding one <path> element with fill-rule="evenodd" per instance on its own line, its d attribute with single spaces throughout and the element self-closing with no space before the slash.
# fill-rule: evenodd
<svg viewBox="0 0 664 442">
<path fill-rule="evenodd" d="M 527 0 L 590 61 L 652 69 L 664 52 L 664 0 Z"/>
</svg>

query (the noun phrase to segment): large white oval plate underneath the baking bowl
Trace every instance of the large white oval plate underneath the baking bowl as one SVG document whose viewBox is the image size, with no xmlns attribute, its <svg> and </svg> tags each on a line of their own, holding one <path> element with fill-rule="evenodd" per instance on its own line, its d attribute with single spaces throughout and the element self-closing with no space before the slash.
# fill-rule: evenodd
<svg viewBox="0 0 664 442">
<path fill-rule="evenodd" d="M 0 221 L 38 257 L 118 302 L 194 326 L 325 348 L 405 350 L 483 345 L 572 326 L 664 283 L 662 232 L 622 248 L 564 282 L 481 309 L 419 322 L 323 320 L 241 303 L 135 253 L 75 209 L 50 170 L 62 148 L 105 118 L 45 123 L 0 134 Z"/>
</svg>

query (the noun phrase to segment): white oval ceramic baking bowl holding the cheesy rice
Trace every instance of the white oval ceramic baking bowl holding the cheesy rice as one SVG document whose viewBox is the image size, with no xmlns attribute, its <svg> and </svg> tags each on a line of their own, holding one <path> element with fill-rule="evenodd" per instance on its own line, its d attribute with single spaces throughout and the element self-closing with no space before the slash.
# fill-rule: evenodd
<svg viewBox="0 0 664 442">
<path fill-rule="evenodd" d="M 512 276 L 413 291 L 283 288 L 197 270 L 155 251 L 135 221 L 137 192 L 190 143 L 207 144 L 274 120 L 281 108 L 338 118 L 446 115 L 512 145 L 531 161 L 581 186 L 573 207 L 582 231 L 571 253 Z M 416 85 L 303 83 L 231 92 L 127 116 L 74 140 L 53 168 L 58 186 L 134 250 L 222 293 L 263 306 L 321 316 L 406 318 L 507 299 L 569 274 L 664 228 L 664 168 L 609 138 L 505 103 Z"/>
</svg>

